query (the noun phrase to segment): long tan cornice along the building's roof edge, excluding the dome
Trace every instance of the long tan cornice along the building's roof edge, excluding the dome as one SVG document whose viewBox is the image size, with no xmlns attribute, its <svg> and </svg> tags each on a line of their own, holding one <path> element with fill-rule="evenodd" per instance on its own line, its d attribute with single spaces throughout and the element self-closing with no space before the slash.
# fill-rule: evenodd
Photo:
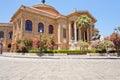
<svg viewBox="0 0 120 80">
<path fill-rule="evenodd" d="M 39 14 L 39 15 L 42 15 L 42 16 L 46 16 L 46 17 L 49 17 L 49 18 L 52 18 L 52 19 L 68 19 L 69 17 L 71 16 L 75 16 L 75 15 L 80 15 L 80 14 L 87 14 L 90 16 L 90 18 L 92 18 L 93 22 L 95 23 L 97 20 L 88 12 L 88 11 L 78 11 L 78 10 L 75 10 L 73 11 L 72 13 L 64 16 L 64 15 L 58 15 L 58 16 L 55 16 L 55 15 L 52 15 L 50 13 L 47 13 L 47 12 L 44 12 L 44 11 L 40 11 L 40 10 L 37 10 L 37 9 L 34 9 L 33 7 L 27 7 L 27 6 L 24 6 L 22 5 L 15 13 L 14 15 L 12 16 L 10 22 L 12 22 L 14 20 L 14 18 L 21 12 L 21 11 L 28 11 L 28 12 L 31 12 L 31 13 L 35 13 L 35 14 Z"/>
</svg>

